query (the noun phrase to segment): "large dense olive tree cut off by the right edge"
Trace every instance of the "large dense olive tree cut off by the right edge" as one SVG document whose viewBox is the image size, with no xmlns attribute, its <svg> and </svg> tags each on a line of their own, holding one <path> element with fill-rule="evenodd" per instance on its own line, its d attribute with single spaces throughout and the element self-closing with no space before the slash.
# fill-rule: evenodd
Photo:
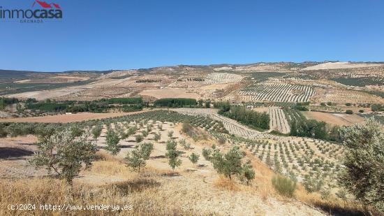
<svg viewBox="0 0 384 216">
<path fill-rule="evenodd" d="M 383 125 L 369 118 L 366 124 L 341 129 L 346 147 L 339 183 L 362 202 L 384 211 Z"/>
</svg>

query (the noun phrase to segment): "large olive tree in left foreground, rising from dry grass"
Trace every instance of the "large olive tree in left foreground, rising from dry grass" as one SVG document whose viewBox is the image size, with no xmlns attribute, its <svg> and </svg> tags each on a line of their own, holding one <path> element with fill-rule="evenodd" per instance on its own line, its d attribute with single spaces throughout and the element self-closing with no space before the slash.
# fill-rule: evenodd
<svg viewBox="0 0 384 216">
<path fill-rule="evenodd" d="M 97 150 L 96 145 L 87 141 L 88 134 L 75 135 L 70 128 L 45 137 L 39 145 L 39 152 L 29 163 L 36 168 L 45 167 L 49 172 L 54 171 L 72 185 L 82 166 L 89 168 L 92 165 Z"/>
</svg>

